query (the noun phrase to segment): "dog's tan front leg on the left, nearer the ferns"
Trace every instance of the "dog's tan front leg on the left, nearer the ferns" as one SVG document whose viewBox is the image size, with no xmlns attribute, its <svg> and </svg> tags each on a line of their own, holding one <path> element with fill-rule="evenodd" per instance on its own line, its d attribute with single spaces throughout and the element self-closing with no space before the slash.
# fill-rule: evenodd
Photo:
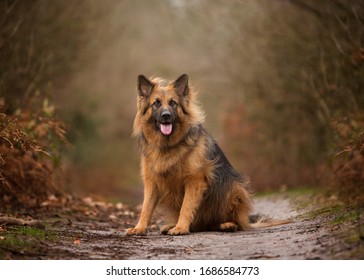
<svg viewBox="0 0 364 280">
<path fill-rule="evenodd" d="M 139 222 L 134 228 L 129 228 L 126 235 L 145 235 L 150 224 L 155 207 L 158 203 L 158 192 L 150 182 L 144 182 L 144 200 Z"/>
</svg>

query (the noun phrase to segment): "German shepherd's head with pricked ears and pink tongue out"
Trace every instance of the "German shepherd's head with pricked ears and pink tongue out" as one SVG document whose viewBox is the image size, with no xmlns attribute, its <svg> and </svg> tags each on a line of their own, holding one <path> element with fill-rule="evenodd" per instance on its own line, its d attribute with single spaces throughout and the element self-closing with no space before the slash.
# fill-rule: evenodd
<svg viewBox="0 0 364 280">
<path fill-rule="evenodd" d="M 191 125 L 203 121 L 203 113 L 194 102 L 195 94 L 189 87 L 186 74 L 172 82 L 139 75 L 137 90 L 135 135 L 143 133 L 156 141 L 172 141 Z"/>
</svg>

